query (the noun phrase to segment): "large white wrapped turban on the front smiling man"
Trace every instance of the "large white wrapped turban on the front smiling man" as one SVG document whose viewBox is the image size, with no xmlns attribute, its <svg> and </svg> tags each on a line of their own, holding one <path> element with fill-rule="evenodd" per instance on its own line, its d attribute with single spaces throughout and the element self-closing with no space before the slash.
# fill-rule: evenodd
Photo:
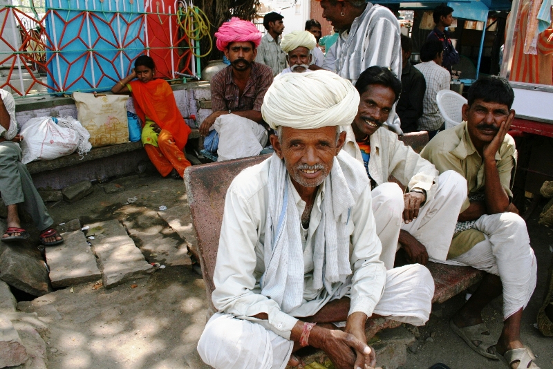
<svg viewBox="0 0 553 369">
<path fill-rule="evenodd" d="M 272 129 L 318 129 L 350 125 L 358 106 L 359 93 L 351 82 L 328 70 L 317 70 L 274 77 L 261 114 Z"/>
</svg>

